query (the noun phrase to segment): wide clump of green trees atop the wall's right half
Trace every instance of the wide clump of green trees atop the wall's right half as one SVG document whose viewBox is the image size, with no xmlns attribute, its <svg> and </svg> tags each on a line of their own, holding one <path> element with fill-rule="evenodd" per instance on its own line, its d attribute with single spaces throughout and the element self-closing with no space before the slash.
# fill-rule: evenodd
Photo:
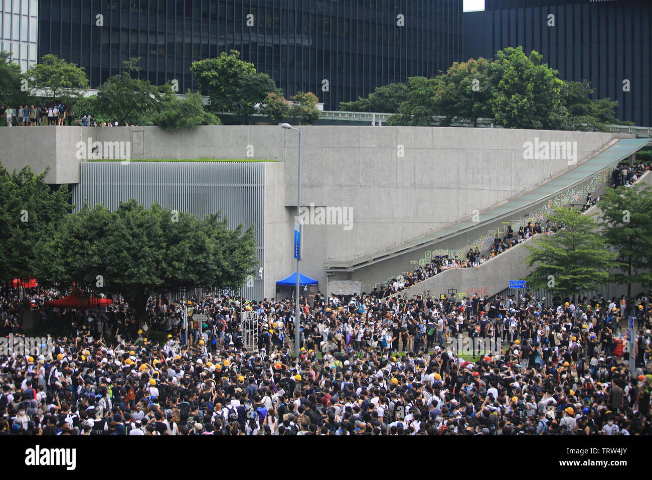
<svg viewBox="0 0 652 480">
<path fill-rule="evenodd" d="M 606 131 L 618 103 L 591 99 L 584 82 L 565 82 L 536 51 L 505 48 L 494 59 L 455 62 L 432 78 L 376 88 L 368 97 L 340 103 L 340 110 L 395 114 L 390 125 L 451 125 L 487 118 L 505 128 Z M 627 123 L 627 122 L 625 122 Z"/>
</svg>

